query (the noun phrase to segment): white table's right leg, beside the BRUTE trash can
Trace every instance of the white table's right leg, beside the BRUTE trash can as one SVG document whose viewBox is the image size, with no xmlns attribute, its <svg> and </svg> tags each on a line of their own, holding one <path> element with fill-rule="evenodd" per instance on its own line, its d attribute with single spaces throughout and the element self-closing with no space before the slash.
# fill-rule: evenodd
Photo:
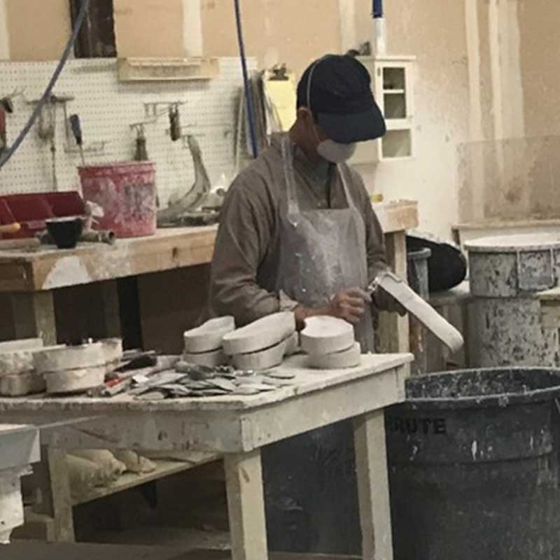
<svg viewBox="0 0 560 560">
<path fill-rule="evenodd" d="M 393 560 L 383 410 L 354 421 L 363 560 Z"/>
</svg>

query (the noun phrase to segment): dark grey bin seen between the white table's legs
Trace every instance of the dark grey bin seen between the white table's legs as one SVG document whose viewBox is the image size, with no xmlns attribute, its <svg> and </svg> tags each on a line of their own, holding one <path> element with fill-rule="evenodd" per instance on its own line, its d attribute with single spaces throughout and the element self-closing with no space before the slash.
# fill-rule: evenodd
<svg viewBox="0 0 560 560">
<path fill-rule="evenodd" d="M 264 447 L 262 471 L 269 550 L 360 554 L 351 421 Z"/>
</svg>

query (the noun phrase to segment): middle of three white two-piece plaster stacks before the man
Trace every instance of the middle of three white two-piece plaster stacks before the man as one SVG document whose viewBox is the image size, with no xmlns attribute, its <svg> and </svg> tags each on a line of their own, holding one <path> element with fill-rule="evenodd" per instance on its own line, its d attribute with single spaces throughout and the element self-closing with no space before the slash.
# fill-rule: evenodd
<svg viewBox="0 0 560 560">
<path fill-rule="evenodd" d="M 297 351 L 295 316 L 281 311 L 258 319 L 223 338 L 223 351 L 238 370 L 269 370 Z"/>
</svg>

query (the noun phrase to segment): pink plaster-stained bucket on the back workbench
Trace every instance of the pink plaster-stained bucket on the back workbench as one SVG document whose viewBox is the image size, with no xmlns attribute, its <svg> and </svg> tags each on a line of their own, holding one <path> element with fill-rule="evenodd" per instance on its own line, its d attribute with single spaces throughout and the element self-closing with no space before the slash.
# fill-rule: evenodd
<svg viewBox="0 0 560 560">
<path fill-rule="evenodd" d="M 154 235 L 157 228 L 155 164 L 123 162 L 80 167 L 85 202 L 99 204 L 105 216 L 97 230 L 113 230 L 117 237 Z"/>
</svg>

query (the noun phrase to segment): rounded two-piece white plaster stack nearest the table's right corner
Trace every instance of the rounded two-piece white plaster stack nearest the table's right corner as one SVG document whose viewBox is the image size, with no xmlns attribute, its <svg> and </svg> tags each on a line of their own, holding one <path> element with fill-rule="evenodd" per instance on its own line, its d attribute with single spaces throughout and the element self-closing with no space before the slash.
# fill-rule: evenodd
<svg viewBox="0 0 560 560">
<path fill-rule="evenodd" d="M 309 354 L 309 366 L 318 370 L 340 370 L 360 365 L 361 347 L 354 328 L 343 319 L 310 317 L 301 333 L 302 349 Z"/>
</svg>

